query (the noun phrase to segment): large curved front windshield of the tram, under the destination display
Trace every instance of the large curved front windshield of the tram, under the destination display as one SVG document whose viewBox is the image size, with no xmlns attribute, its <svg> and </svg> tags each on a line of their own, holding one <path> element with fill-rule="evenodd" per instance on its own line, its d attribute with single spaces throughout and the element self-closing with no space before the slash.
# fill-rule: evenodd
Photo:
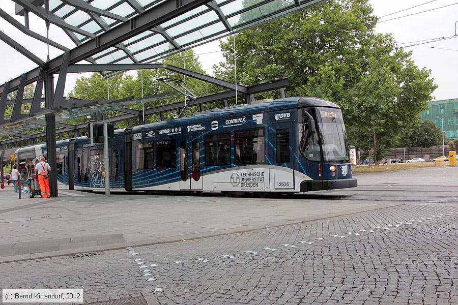
<svg viewBox="0 0 458 305">
<path fill-rule="evenodd" d="M 319 118 L 316 120 L 317 131 L 314 133 L 308 130 L 307 118 L 300 124 L 302 154 L 312 161 L 350 162 L 347 132 L 340 109 L 320 107 L 316 113 L 312 109 L 307 109 L 307 112 L 313 118 L 317 115 Z"/>
</svg>

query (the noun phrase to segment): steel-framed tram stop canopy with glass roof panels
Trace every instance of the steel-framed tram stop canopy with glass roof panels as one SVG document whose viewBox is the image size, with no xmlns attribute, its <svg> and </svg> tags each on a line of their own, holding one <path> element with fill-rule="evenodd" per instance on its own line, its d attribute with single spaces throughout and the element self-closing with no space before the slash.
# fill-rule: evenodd
<svg viewBox="0 0 458 305">
<path fill-rule="evenodd" d="M 171 54 L 223 38 L 326 0 L 4 0 L 6 1 L 14 3 L 15 15 L 0 9 L 0 17 L 24 35 L 59 49 L 60 54 L 44 60 L 43 54 L 35 54 L 20 45 L 15 37 L 9 37 L 0 31 L 2 41 L 37 65 L 35 69 L 0 85 L 0 136 L 14 136 L 0 141 L 0 150 L 5 149 L 6 144 L 11 145 L 15 142 L 46 136 L 48 152 L 50 152 L 48 159 L 53 163 L 55 156 L 52 156 L 52 151 L 55 147 L 56 133 L 78 131 L 85 127 L 85 125 L 71 126 L 59 123 L 60 118 L 83 115 L 88 109 L 103 111 L 108 109 L 107 107 L 110 109 L 119 107 L 117 110 L 121 109 L 120 111 L 125 113 L 118 117 L 118 120 L 139 118 L 137 110 L 126 108 L 126 105 L 129 105 L 127 102 L 131 104 L 145 102 L 135 101 L 133 98 L 120 101 L 81 101 L 64 98 L 67 73 L 97 71 L 109 77 L 119 71 L 151 69 L 150 65 L 157 65 L 153 68 L 173 70 L 217 84 L 225 90 L 212 96 L 199 97 L 192 101 L 190 106 L 226 101 L 238 95 L 244 96 L 245 101 L 250 103 L 254 93 L 287 87 L 288 79 L 243 86 L 178 67 L 153 63 Z M 69 48 L 52 40 L 52 37 L 44 37 L 34 31 L 29 25 L 30 14 L 43 19 L 47 31 L 50 24 L 60 27 L 75 46 Z M 23 23 L 18 21 L 20 20 L 18 16 L 23 16 Z M 54 74 L 58 75 L 55 84 Z M 31 83 L 36 84 L 34 97 L 31 100 L 24 100 L 24 87 Z M 44 98 L 42 98 L 43 89 Z M 11 92 L 17 92 L 14 100 L 8 100 L 8 94 Z M 165 94 L 146 98 L 160 100 L 164 96 Z M 23 103 L 31 105 L 28 113 L 23 113 Z M 224 106 L 227 106 L 227 101 Z M 7 116 L 5 110 L 8 107 L 12 108 L 12 113 Z M 76 110 L 82 107 L 87 109 Z M 183 107 L 185 107 L 183 103 L 161 105 L 146 110 L 144 114 L 161 114 L 162 111 Z M 142 120 L 139 121 L 140 124 L 144 123 Z M 43 125 L 46 126 L 46 133 L 23 133 Z M 29 144 L 33 143 L 34 141 L 29 142 Z"/>
</svg>

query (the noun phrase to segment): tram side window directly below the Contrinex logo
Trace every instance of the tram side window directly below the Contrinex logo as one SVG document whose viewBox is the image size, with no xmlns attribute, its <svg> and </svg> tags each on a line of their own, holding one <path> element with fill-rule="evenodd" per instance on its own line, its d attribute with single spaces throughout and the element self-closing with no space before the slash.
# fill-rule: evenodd
<svg viewBox="0 0 458 305">
<path fill-rule="evenodd" d="M 264 129 L 235 132 L 235 164 L 265 163 Z"/>
</svg>

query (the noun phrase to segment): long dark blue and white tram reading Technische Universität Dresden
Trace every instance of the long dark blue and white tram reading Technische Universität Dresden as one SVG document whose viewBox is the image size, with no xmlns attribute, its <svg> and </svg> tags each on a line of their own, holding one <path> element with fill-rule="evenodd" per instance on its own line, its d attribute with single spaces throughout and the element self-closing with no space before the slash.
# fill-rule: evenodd
<svg viewBox="0 0 458 305">
<path fill-rule="evenodd" d="M 56 147 L 63 146 L 59 181 L 70 189 L 104 188 L 102 145 L 80 137 Z M 127 191 L 297 193 L 357 186 L 340 108 L 317 98 L 212 109 L 118 130 L 109 154 L 110 187 Z"/>
</svg>

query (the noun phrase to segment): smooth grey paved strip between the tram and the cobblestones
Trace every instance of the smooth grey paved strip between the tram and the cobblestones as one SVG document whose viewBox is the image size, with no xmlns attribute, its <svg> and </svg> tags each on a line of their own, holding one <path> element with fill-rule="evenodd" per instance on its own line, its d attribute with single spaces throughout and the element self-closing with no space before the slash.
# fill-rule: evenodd
<svg viewBox="0 0 458 305">
<path fill-rule="evenodd" d="M 449 178 L 453 175 L 458 176 L 458 168 L 363 174 L 356 176 L 361 177 L 362 186 L 358 188 L 263 199 L 222 197 L 217 193 L 146 196 L 122 192 L 107 198 L 103 194 L 67 190 L 58 198 L 18 200 L 17 194 L 6 188 L 0 191 L 2 199 L 6 199 L 0 201 L 0 257 L 22 254 L 27 249 L 29 254 L 52 253 L 54 246 L 59 246 L 56 253 L 71 254 L 81 248 L 154 245 L 323 220 L 413 201 L 456 202 L 453 192 L 438 195 L 418 187 L 427 177 L 434 184 L 453 185 L 455 182 Z M 388 183 L 399 185 L 405 181 L 413 186 L 387 187 Z M 383 191 L 374 194 L 374 186 Z"/>
</svg>

